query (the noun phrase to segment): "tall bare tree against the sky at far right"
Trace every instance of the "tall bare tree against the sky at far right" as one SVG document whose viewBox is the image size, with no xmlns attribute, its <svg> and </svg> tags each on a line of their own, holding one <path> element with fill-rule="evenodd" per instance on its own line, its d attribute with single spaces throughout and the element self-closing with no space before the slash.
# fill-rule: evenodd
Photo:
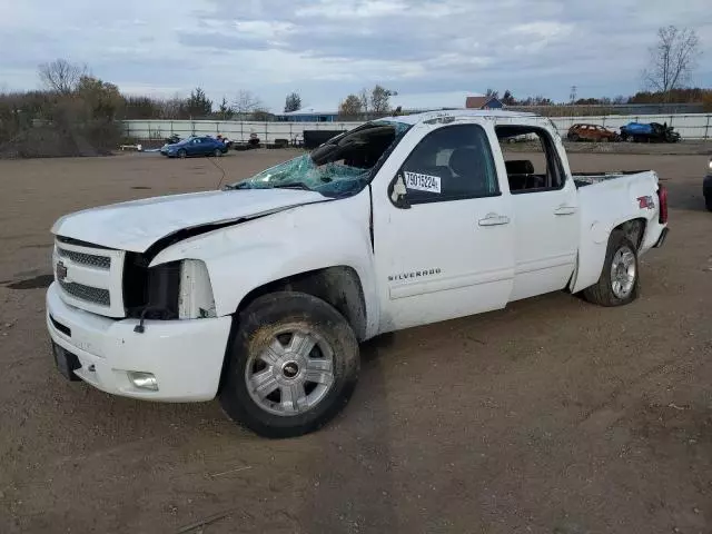
<svg viewBox="0 0 712 534">
<path fill-rule="evenodd" d="M 700 39 L 694 30 L 660 28 L 657 43 L 650 49 L 650 65 L 643 71 L 645 85 L 665 95 L 682 87 L 690 80 L 700 53 Z"/>
</svg>

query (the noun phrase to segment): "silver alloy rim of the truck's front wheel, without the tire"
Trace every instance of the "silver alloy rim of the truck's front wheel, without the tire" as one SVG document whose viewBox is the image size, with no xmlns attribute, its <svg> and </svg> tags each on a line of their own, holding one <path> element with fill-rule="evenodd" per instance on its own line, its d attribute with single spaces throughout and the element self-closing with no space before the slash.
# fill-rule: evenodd
<svg viewBox="0 0 712 534">
<path fill-rule="evenodd" d="M 245 367 L 247 392 L 265 412 L 295 416 L 314 408 L 334 384 L 334 352 L 324 338 L 298 328 L 276 334 Z"/>
</svg>

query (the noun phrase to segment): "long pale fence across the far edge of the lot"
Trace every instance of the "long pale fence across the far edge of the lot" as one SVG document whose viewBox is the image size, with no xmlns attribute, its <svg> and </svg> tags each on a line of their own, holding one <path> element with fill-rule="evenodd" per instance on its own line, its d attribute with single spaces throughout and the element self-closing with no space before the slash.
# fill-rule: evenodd
<svg viewBox="0 0 712 534">
<path fill-rule="evenodd" d="M 600 117 L 552 117 L 558 131 L 565 134 L 572 125 L 591 123 L 617 130 L 629 122 L 666 122 L 683 139 L 712 139 L 712 113 L 689 115 L 606 115 Z M 231 120 L 126 120 L 127 137 L 139 140 L 164 139 L 177 134 L 188 136 L 222 135 L 236 141 L 246 141 L 256 134 L 263 142 L 275 139 L 303 139 L 304 130 L 350 130 L 362 122 L 247 122 Z"/>
</svg>

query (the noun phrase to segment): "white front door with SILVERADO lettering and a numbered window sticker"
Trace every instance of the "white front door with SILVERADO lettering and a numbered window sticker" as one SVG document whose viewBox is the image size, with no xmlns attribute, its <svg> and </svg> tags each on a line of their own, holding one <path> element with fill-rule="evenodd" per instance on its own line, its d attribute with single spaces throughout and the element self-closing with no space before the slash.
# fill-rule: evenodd
<svg viewBox="0 0 712 534">
<path fill-rule="evenodd" d="M 491 142 L 496 136 L 486 122 L 418 125 L 378 172 L 380 332 L 506 305 L 514 225 Z"/>
</svg>

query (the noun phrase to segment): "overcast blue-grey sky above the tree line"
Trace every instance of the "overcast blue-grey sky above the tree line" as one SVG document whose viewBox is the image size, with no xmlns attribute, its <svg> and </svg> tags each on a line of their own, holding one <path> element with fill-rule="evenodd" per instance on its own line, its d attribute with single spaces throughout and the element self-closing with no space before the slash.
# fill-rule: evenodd
<svg viewBox="0 0 712 534">
<path fill-rule="evenodd" d="M 382 83 L 406 107 L 466 93 L 566 100 L 640 89 L 663 24 L 694 28 L 693 82 L 712 86 L 712 0 L 0 0 L 0 89 L 34 89 L 37 66 L 86 62 L 125 92 L 216 101 L 240 89 L 280 111 L 336 109 Z"/>
</svg>

